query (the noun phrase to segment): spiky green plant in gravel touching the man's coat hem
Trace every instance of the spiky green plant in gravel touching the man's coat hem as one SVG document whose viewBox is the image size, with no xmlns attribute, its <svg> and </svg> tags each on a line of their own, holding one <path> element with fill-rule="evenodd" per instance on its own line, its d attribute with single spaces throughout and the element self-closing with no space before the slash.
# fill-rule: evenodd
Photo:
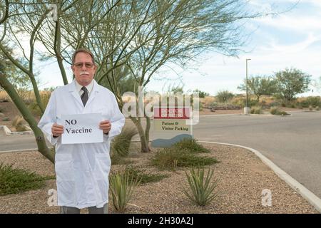
<svg viewBox="0 0 321 228">
<path fill-rule="evenodd" d="M 111 202 L 117 212 L 125 212 L 128 202 L 131 201 L 134 187 L 138 185 L 139 180 L 133 180 L 133 177 L 130 177 L 128 172 L 109 176 Z"/>
</svg>

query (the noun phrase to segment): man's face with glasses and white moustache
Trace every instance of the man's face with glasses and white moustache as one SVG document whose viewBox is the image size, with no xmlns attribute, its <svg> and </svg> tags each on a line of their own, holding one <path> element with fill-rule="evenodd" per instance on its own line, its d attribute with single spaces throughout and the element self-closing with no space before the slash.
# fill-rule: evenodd
<svg viewBox="0 0 321 228">
<path fill-rule="evenodd" d="M 88 53 L 79 52 L 75 56 L 71 69 L 79 85 L 88 86 L 93 81 L 96 66 L 93 65 L 91 56 Z"/>
</svg>

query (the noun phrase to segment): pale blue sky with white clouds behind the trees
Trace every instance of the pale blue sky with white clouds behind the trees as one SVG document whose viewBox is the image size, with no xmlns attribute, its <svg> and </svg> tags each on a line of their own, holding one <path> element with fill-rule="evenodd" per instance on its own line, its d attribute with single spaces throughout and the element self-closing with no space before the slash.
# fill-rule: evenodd
<svg viewBox="0 0 321 228">
<path fill-rule="evenodd" d="M 296 4 L 297 3 L 297 4 Z M 252 19 L 245 24 L 247 41 L 238 57 L 208 52 L 200 56 L 190 69 L 162 71 L 148 83 L 147 90 L 165 92 L 173 86 L 184 91 L 195 89 L 215 95 L 220 90 L 243 93 L 238 86 L 246 76 L 272 76 L 285 68 L 297 68 L 313 80 L 321 76 L 321 0 L 249 0 L 249 7 L 262 11 L 285 11 L 284 14 Z M 40 70 L 42 87 L 63 86 L 56 63 L 44 64 Z M 71 71 L 68 70 L 69 75 Z M 161 80 L 161 78 L 168 78 Z M 321 95 L 313 90 L 302 95 Z M 319 91 L 321 92 L 321 91 Z"/>
</svg>

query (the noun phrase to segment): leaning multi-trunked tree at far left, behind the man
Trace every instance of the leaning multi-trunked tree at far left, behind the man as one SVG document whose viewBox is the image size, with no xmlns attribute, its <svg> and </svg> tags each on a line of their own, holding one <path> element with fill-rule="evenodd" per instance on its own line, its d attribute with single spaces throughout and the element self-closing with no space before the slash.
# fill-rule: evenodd
<svg viewBox="0 0 321 228">
<path fill-rule="evenodd" d="M 99 1 L 102 4 L 103 1 Z M 111 1 L 108 1 L 109 3 Z M 115 4 L 106 6 L 106 14 L 113 9 L 119 1 Z M 0 51 L 1 55 L 5 56 L 6 61 L 10 61 L 16 68 L 19 68 L 25 76 L 29 78 L 29 83 L 32 85 L 32 90 L 36 97 L 36 103 L 44 113 L 44 104 L 41 100 L 38 84 L 35 77 L 36 58 L 41 58 L 44 61 L 48 58 L 55 58 L 58 67 L 61 70 L 61 78 L 64 84 L 68 83 L 66 71 L 63 66 L 63 61 L 70 63 L 70 53 L 68 51 L 75 50 L 78 47 L 83 46 L 83 41 L 88 38 L 86 34 L 92 31 L 95 26 L 101 23 L 101 18 L 92 18 L 91 24 L 86 24 L 86 27 L 81 29 L 81 36 L 75 38 L 75 42 L 66 43 L 66 33 L 61 28 L 60 18 L 68 18 L 70 24 L 74 24 L 77 20 L 81 21 L 81 18 L 77 18 L 78 15 L 72 13 L 72 9 L 81 11 L 80 9 L 86 9 L 87 1 L 57 1 L 54 4 L 53 9 L 50 1 L 36 1 L 27 0 L 24 2 L 1 2 L 0 4 Z M 99 7 L 97 4 L 94 7 Z M 54 10 L 54 17 L 48 16 L 51 11 Z M 93 8 L 91 8 L 94 11 Z M 87 12 L 88 13 L 88 12 Z M 56 18 L 53 20 L 53 18 Z M 77 28 L 76 28 L 77 29 Z M 39 47 L 46 48 L 46 52 L 41 53 L 38 51 Z M 11 50 L 16 51 L 13 53 Z M 65 54 L 63 56 L 63 53 Z M 68 54 L 66 54 L 68 53 Z M 17 56 L 21 58 L 17 58 Z M 1 68 L 5 67 L 5 62 L 1 61 Z M 47 157 L 51 162 L 54 162 L 54 152 L 49 150 L 46 145 L 46 140 L 43 133 L 37 127 L 37 122 L 31 111 L 24 103 L 23 98 L 17 93 L 16 88 L 8 80 L 11 78 L 9 71 L 1 71 L 0 74 L 0 86 L 6 90 L 11 100 L 13 100 L 16 107 L 19 109 L 21 115 L 27 123 L 29 123 L 31 129 L 34 132 L 38 150 Z"/>
</svg>

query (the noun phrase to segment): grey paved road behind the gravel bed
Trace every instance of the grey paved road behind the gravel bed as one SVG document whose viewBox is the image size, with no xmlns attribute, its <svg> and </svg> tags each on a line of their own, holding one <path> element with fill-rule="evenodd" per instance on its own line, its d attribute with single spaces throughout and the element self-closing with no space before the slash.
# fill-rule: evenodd
<svg viewBox="0 0 321 228">
<path fill-rule="evenodd" d="M 259 150 L 321 198 L 321 112 L 293 112 L 286 117 L 201 117 L 194 134 L 198 140 L 228 142 Z M 0 151 L 35 147 L 34 135 L 0 135 Z"/>
</svg>

